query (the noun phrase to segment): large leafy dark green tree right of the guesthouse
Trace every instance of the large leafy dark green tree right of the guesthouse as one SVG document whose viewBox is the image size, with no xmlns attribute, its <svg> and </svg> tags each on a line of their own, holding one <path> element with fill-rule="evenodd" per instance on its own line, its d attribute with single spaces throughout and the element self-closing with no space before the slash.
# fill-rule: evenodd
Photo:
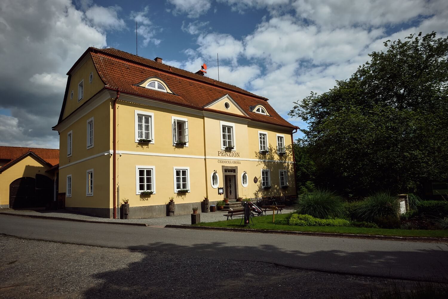
<svg viewBox="0 0 448 299">
<path fill-rule="evenodd" d="M 311 92 L 289 115 L 321 187 L 345 195 L 421 190 L 448 173 L 448 38 L 435 32 L 384 43 L 351 78 Z"/>
</svg>

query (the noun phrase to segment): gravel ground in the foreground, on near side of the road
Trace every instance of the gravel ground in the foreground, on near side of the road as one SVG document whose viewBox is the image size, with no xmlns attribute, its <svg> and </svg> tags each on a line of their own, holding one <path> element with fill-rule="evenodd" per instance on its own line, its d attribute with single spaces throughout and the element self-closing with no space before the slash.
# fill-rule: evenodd
<svg viewBox="0 0 448 299">
<path fill-rule="evenodd" d="M 381 280 L 0 235 L 0 298 L 355 298 Z M 250 252 L 248 252 L 250 254 Z"/>
</svg>

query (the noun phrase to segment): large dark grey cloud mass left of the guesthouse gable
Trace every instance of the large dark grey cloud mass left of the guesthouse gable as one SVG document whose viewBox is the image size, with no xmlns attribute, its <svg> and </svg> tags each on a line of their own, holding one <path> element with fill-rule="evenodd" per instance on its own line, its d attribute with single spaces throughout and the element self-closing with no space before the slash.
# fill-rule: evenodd
<svg viewBox="0 0 448 299">
<path fill-rule="evenodd" d="M 11 112 L 1 116 L 0 140 L 57 147 L 51 127 L 62 106 L 65 74 L 89 46 L 106 46 L 106 35 L 69 0 L 3 0 L 0 11 L 0 107 Z"/>
</svg>

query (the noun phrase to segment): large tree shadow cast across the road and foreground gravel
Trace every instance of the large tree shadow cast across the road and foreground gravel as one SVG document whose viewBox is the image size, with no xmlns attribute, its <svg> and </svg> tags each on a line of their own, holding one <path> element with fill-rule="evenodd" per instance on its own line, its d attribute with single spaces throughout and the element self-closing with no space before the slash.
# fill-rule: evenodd
<svg viewBox="0 0 448 299">
<path fill-rule="evenodd" d="M 306 253 L 283 251 L 272 245 L 229 247 L 216 242 L 192 246 L 150 243 L 129 249 L 144 250 L 142 260 L 127 263 L 123 256 L 122 269 L 95 274 L 102 283 L 87 290 L 85 298 L 354 298 L 383 281 L 328 272 L 376 273 L 422 280 L 430 277 L 448 282 L 448 248 Z M 281 266 L 286 262 L 305 269 L 322 267 L 328 272 Z"/>
</svg>

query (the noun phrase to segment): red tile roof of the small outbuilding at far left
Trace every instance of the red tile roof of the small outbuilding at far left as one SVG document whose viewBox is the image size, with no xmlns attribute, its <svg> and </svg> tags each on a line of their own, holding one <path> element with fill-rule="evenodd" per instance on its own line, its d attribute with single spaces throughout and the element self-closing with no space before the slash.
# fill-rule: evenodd
<svg viewBox="0 0 448 299">
<path fill-rule="evenodd" d="M 48 164 L 54 166 L 59 164 L 59 150 L 52 148 L 36 148 L 36 147 L 2 147 L 0 146 L 0 160 L 10 160 L 6 165 L 13 162 L 18 157 L 23 156 L 27 152 L 33 152 Z"/>
</svg>

